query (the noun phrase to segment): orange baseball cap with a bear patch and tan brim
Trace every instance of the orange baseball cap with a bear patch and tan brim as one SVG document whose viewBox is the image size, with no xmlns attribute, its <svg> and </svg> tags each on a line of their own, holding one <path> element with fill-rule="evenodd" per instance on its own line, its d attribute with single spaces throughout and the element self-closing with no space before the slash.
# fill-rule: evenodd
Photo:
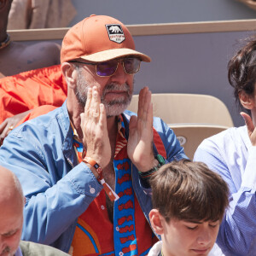
<svg viewBox="0 0 256 256">
<path fill-rule="evenodd" d="M 148 55 L 135 50 L 127 27 L 109 16 L 90 15 L 70 28 L 61 45 L 61 63 L 82 58 L 85 61 L 109 61 L 134 55 L 150 62 Z"/>
</svg>

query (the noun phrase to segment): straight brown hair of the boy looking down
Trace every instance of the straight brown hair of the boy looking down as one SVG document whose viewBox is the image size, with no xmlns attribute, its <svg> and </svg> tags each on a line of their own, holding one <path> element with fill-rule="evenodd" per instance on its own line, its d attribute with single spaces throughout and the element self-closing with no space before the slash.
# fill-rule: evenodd
<svg viewBox="0 0 256 256">
<path fill-rule="evenodd" d="M 150 185 L 153 208 L 167 222 L 217 221 L 229 204 L 227 183 L 201 162 L 172 161 L 154 173 Z"/>
</svg>

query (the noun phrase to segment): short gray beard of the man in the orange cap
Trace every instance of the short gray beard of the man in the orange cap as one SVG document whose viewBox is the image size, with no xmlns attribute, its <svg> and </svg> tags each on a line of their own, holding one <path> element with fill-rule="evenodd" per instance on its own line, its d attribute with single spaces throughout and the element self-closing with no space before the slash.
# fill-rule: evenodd
<svg viewBox="0 0 256 256">
<path fill-rule="evenodd" d="M 89 88 L 89 85 L 87 84 L 87 81 L 79 73 L 75 95 L 77 96 L 79 104 L 81 105 L 82 108 L 84 108 L 85 103 L 87 101 L 88 88 Z M 113 90 L 125 91 L 127 95 L 125 100 L 123 100 L 122 98 L 119 98 L 111 102 L 106 102 L 105 96 L 107 95 L 108 92 Z M 106 108 L 107 117 L 117 116 L 120 113 L 123 113 L 125 109 L 130 105 L 131 97 L 132 97 L 132 91 L 130 90 L 130 86 L 128 84 L 116 84 L 116 83 L 107 84 L 101 96 L 101 102 L 104 104 Z"/>
</svg>

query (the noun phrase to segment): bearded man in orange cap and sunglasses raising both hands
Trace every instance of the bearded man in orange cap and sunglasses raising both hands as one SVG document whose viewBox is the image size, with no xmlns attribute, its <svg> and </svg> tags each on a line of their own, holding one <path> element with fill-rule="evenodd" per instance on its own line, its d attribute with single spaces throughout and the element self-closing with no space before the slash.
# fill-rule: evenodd
<svg viewBox="0 0 256 256">
<path fill-rule="evenodd" d="M 150 58 L 112 17 L 91 15 L 67 32 L 67 101 L 17 127 L 0 148 L 26 195 L 22 239 L 73 255 L 146 255 L 157 241 L 148 178 L 186 155 L 153 118 L 147 87 L 137 115 L 125 110 L 141 61 Z"/>
</svg>

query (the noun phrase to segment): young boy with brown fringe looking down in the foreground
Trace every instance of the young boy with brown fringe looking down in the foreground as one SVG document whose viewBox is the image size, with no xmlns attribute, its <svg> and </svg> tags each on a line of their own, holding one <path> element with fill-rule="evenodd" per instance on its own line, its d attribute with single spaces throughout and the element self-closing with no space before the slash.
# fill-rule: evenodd
<svg viewBox="0 0 256 256">
<path fill-rule="evenodd" d="M 229 203 L 222 177 L 201 162 L 181 160 L 162 166 L 150 184 L 149 218 L 162 241 L 148 256 L 222 255 L 210 253 Z"/>
</svg>

